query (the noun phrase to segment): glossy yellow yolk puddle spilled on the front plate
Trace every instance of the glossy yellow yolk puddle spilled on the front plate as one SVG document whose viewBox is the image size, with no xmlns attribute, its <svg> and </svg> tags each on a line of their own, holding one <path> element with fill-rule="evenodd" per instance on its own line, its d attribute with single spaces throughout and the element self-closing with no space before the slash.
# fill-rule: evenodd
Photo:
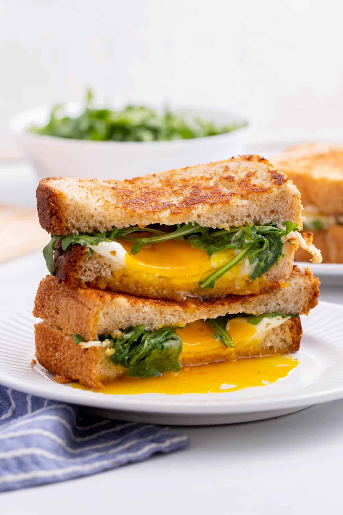
<svg viewBox="0 0 343 515">
<path fill-rule="evenodd" d="M 265 356 L 221 361 L 165 372 L 159 377 L 119 377 L 99 390 L 71 383 L 73 388 L 109 394 L 223 393 L 265 386 L 284 379 L 298 366 L 291 356 Z"/>
</svg>

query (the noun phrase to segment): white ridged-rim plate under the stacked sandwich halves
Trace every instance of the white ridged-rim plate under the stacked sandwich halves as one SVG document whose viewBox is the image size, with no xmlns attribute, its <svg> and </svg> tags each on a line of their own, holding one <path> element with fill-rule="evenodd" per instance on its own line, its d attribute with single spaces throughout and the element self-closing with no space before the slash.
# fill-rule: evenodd
<svg viewBox="0 0 343 515">
<path fill-rule="evenodd" d="M 57 384 L 35 355 L 29 310 L 0 317 L 0 384 L 87 406 L 119 420 L 204 425 L 260 420 L 343 398 L 343 306 L 321 302 L 302 317 L 299 366 L 277 383 L 225 393 L 108 395 Z"/>
</svg>

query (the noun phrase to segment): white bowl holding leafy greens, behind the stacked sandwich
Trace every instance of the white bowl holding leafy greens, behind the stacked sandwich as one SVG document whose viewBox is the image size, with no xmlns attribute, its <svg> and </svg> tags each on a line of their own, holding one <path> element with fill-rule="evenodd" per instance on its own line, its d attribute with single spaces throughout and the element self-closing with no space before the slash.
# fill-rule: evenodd
<svg viewBox="0 0 343 515">
<path fill-rule="evenodd" d="M 111 107 L 122 109 L 127 104 L 148 105 L 161 111 L 162 103 L 128 102 L 117 100 Z M 246 118 L 234 112 L 205 108 L 182 109 L 169 106 L 171 111 L 186 116 L 201 116 L 219 126 L 235 123 L 241 125 Z M 65 105 L 69 115 L 82 110 L 80 103 Z M 244 153 L 249 125 L 226 134 L 192 140 L 156 142 L 89 141 L 56 138 L 27 132 L 32 124 L 45 125 L 50 106 L 25 111 L 15 116 L 10 129 L 35 166 L 40 178 L 87 177 L 98 179 L 130 179 L 158 171 L 180 168 L 199 163 L 228 159 Z"/>
</svg>

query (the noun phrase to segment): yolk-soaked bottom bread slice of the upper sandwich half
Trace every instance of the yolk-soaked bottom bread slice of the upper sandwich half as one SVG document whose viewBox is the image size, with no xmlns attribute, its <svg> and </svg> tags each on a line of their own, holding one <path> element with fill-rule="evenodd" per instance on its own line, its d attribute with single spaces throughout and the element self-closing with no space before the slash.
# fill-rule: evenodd
<svg viewBox="0 0 343 515">
<path fill-rule="evenodd" d="M 212 289 L 201 290 L 199 287 L 199 281 L 207 278 L 209 271 L 203 272 L 201 276 L 185 278 L 181 288 L 180 281 L 174 278 L 139 273 L 126 267 L 112 270 L 110 260 L 96 252 L 90 256 L 87 248 L 81 245 L 73 245 L 62 254 L 55 277 L 70 286 L 106 289 L 149 299 L 182 301 L 186 296 L 218 299 L 230 294 L 258 294 L 267 291 L 273 285 L 285 282 L 291 272 L 297 248 L 296 241 L 293 245 L 286 242 L 283 247 L 284 257 L 255 281 L 250 276 L 238 281 L 230 272 L 219 278 Z"/>
</svg>

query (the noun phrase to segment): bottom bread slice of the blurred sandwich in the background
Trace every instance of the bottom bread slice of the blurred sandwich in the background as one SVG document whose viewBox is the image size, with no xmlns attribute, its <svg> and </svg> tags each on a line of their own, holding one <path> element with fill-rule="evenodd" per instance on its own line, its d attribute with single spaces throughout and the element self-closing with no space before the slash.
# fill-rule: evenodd
<svg viewBox="0 0 343 515">
<path fill-rule="evenodd" d="M 320 249 L 324 263 L 343 263 L 343 226 L 333 225 L 328 229 L 312 231 L 313 243 Z M 296 261 L 308 261 L 308 252 L 299 249 L 295 254 Z"/>
</svg>

